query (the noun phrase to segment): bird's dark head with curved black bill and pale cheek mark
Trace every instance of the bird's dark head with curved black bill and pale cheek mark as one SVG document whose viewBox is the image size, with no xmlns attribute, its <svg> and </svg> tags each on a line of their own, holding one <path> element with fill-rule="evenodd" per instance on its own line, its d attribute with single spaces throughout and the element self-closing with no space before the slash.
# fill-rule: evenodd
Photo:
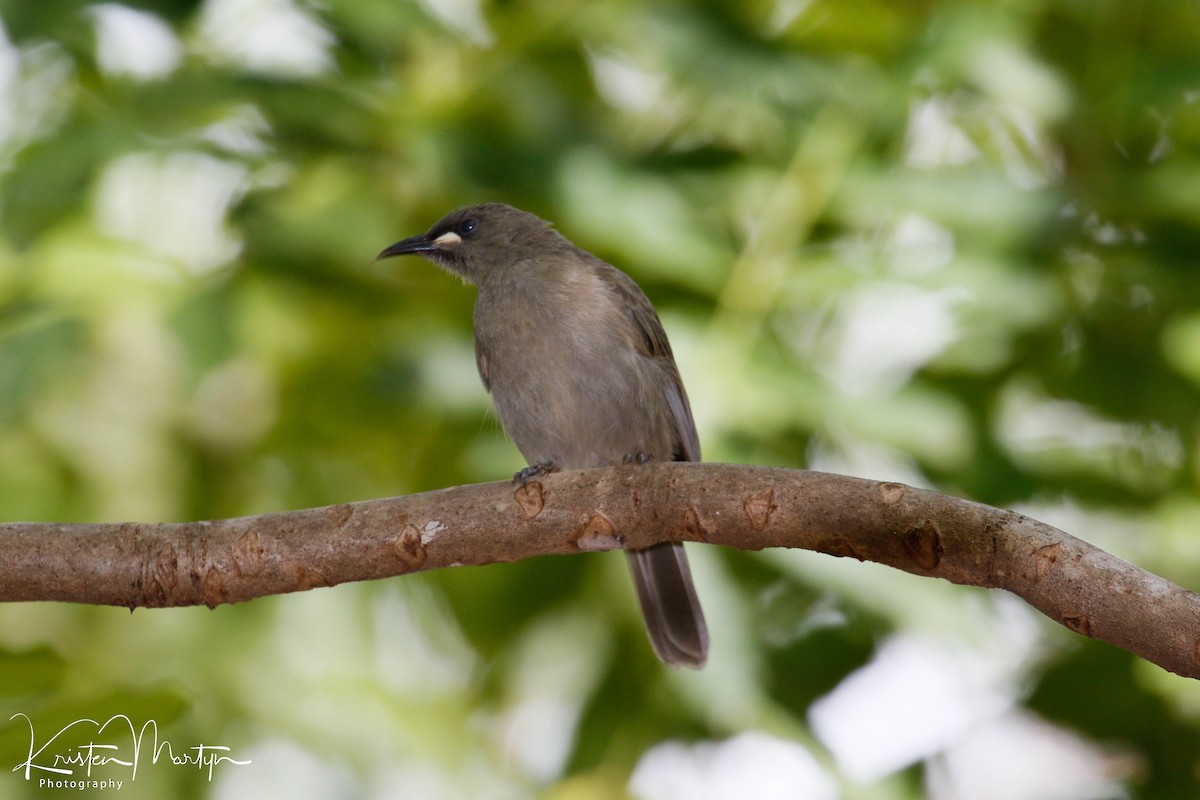
<svg viewBox="0 0 1200 800">
<path fill-rule="evenodd" d="M 424 255 L 470 283 L 503 272 L 547 248 L 570 247 L 550 223 L 503 203 L 451 211 L 424 234 L 384 249 L 376 259 Z"/>
</svg>

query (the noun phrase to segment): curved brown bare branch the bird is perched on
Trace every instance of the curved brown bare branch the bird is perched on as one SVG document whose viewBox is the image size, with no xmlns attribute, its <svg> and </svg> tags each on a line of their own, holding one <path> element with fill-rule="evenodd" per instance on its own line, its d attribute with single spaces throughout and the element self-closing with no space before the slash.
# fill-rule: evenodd
<svg viewBox="0 0 1200 800">
<path fill-rule="evenodd" d="M 349 581 L 686 540 L 797 547 L 1007 589 L 1200 678 L 1200 595 L 1028 517 L 901 483 L 648 464 L 186 523 L 0 524 L 0 601 L 217 606 Z"/>
</svg>

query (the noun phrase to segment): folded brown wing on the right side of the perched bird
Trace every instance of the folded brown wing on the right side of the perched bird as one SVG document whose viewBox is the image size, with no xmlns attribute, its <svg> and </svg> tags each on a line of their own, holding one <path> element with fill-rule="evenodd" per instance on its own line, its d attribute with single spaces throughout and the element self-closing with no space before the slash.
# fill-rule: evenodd
<svg viewBox="0 0 1200 800">
<path fill-rule="evenodd" d="M 605 261 L 599 261 L 599 264 L 602 265 L 598 270 L 600 279 L 617 294 L 620 307 L 625 312 L 624 321 L 626 325 L 622 331 L 625 341 L 638 353 L 658 361 L 667 373 L 667 408 L 671 409 L 671 419 L 678 434 L 678 450 L 674 453 L 674 459 L 700 461 L 700 437 L 696 434 L 696 422 L 692 420 L 688 392 L 679 378 L 679 368 L 671 353 L 671 343 L 662 329 L 662 321 L 659 320 L 654 306 L 650 305 L 646 293 L 634 278 Z"/>
</svg>

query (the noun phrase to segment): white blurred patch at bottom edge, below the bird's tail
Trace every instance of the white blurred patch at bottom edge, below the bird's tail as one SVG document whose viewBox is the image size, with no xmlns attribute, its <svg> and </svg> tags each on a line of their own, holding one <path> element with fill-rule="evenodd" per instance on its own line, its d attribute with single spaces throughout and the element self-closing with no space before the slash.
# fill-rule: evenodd
<svg viewBox="0 0 1200 800">
<path fill-rule="evenodd" d="M 838 786 L 803 745 L 746 732 L 725 741 L 667 741 L 629 781 L 637 800 L 834 800 Z"/>
</svg>

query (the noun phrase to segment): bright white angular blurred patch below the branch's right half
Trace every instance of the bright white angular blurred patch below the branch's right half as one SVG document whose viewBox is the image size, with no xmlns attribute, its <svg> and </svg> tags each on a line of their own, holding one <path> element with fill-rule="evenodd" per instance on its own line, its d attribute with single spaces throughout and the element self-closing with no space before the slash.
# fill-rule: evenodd
<svg viewBox="0 0 1200 800">
<path fill-rule="evenodd" d="M 917 636 L 886 642 L 817 699 L 809 722 L 847 777 L 870 783 L 929 758 L 1014 703 L 983 654 Z"/>
</svg>

